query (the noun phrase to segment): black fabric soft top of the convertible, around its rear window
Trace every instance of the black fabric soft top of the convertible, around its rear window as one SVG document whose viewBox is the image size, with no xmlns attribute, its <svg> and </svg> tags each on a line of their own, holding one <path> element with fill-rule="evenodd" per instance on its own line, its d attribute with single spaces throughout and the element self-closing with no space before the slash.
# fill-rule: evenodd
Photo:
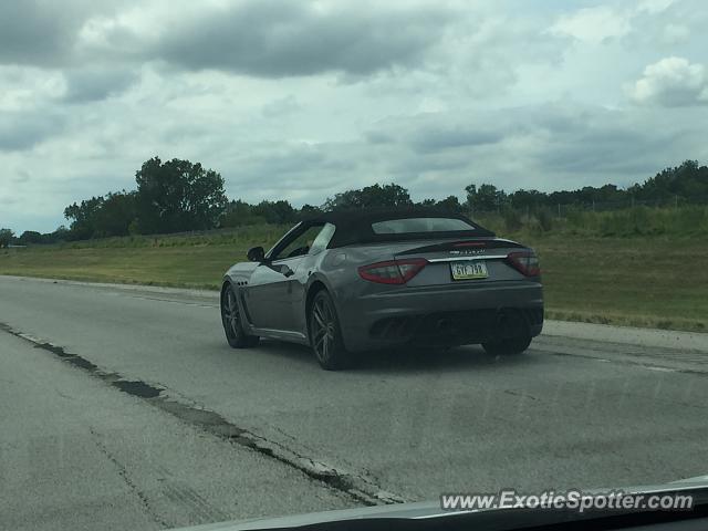
<svg viewBox="0 0 708 531">
<path fill-rule="evenodd" d="M 437 232 L 405 232 L 377 235 L 372 223 L 405 218 L 451 218 L 460 219 L 475 227 L 470 230 L 451 230 Z M 355 210 L 336 210 L 323 212 L 305 220 L 306 223 L 332 223 L 336 227 L 329 248 L 352 246 L 356 243 L 376 243 L 382 241 L 429 240 L 441 238 L 493 237 L 494 233 L 466 216 L 439 208 L 361 208 Z"/>
</svg>

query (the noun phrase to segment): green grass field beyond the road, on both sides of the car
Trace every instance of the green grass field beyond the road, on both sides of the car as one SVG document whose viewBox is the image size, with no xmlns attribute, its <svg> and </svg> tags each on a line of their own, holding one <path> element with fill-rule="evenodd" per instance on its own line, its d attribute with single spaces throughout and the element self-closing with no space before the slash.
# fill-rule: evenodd
<svg viewBox="0 0 708 531">
<path fill-rule="evenodd" d="M 0 274 L 218 289 L 231 263 L 280 233 L 280 227 L 249 227 L 9 249 L 0 251 Z M 504 236 L 537 249 L 549 317 L 708 331 L 704 236 Z"/>
</svg>

